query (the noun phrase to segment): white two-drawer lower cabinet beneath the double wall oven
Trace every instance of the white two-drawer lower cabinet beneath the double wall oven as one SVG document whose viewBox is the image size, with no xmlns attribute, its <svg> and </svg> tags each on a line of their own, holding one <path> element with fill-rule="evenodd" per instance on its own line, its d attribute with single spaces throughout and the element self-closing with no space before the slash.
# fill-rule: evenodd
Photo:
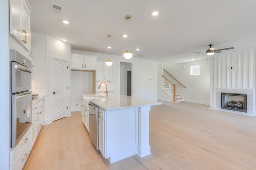
<svg viewBox="0 0 256 170">
<path fill-rule="evenodd" d="M 31 127 L 18 145 L 10 151 L 10 170 L 22 170 L 30 154 Z"/>
</svg>

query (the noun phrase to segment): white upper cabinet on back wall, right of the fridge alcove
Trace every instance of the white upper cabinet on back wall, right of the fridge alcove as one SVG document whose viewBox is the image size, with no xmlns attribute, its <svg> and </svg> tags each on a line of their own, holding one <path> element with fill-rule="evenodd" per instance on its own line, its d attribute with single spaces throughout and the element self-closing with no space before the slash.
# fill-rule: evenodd
<svg viewBox="0 0 256 170">
<path fill-rule="evenodd" d="M 96 80 L 112 81 L 112 66 L 107 66 L 105 62 L 98 61 L 96 64 Z"/>
</svg>

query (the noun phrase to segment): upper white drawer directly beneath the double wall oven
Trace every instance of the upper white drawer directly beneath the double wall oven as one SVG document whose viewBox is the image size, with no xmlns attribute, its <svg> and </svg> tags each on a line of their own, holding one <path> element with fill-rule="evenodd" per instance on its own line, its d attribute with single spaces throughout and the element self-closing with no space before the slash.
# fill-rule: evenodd
<svg viewBox="0 0 256 170">
<path fill-rule="evenodd" d="M 10 151 L 10 165 L 12 165 L 20 154 L 21 150 L 25 147 L 25 145 L 30 146 L 30 131 L 31 127 L 25 133 L 24 137 L 20 140 L 18 145 Z M 30 149 L 30 148 L 29 148 Z"/>
</svg>

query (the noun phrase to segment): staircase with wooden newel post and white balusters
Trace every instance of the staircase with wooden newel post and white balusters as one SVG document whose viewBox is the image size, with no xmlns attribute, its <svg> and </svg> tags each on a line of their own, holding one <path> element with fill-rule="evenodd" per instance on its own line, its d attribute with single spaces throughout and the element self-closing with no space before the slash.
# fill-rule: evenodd
<svg viewBox="0 0 256 170">
<path fill-rule="evenodd" d="M 176 91 L 176 84 L 172 84 L 164 75 L 162 75 L 162 84 L 164 90 L 172 97 L 174 103 L 183 101 L 183 97 Z"/>
</svg>

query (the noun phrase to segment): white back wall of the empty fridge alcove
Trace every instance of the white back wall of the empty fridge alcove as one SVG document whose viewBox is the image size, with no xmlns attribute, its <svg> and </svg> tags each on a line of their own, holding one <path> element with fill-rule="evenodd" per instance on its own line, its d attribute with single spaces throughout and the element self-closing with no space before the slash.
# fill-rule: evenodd
<svg viewBox="0 0 256 170">
<path fill-rule="evenodd" d="M 71 71 L 71 111 L 79 111 L 81 109 L 80 94 L 90 94 L 92 89 L 92 72 Z M 78 105 L 76 106 L 76 104 Z"/>
</svg>

